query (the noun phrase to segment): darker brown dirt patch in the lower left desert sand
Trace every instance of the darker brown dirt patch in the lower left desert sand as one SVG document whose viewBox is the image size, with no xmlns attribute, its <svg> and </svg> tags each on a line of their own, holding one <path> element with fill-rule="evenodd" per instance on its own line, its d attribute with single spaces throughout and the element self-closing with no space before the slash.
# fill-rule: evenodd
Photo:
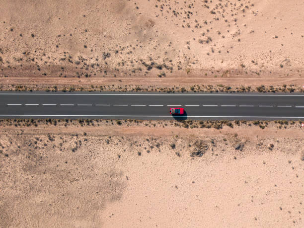
<svg viewBox="0 0 304 228">
<path fill-rule="evenodd" d="M 2 226 L 96 227 L 106 203 L 120 200 L 123 172 L 113 162 L 101 165 L 107 158 L 87 147 L 93 141 L 75 135 L 51 139 L 1 132 Z"/>
</svg>

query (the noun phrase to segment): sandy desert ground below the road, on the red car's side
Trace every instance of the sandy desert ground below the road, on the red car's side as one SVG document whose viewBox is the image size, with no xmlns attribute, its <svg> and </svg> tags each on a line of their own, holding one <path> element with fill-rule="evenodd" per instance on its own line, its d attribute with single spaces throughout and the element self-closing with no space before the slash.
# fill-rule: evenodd
<svg viewBox="0 0 304 228">
<path fill-rule="evenodd" d="M 0 227 L 304 225 L 299 123 L 93 124 L 1 123 Z"/>
</svg>

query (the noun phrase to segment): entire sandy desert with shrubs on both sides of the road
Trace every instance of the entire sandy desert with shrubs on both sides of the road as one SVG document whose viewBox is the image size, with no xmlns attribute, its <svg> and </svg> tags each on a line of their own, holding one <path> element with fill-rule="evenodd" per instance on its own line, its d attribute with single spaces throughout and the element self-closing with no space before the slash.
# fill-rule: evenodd
<svg viewBox="0 0 304 228">
<path fill-rule="evenodd" d="M 0 5 L 0 90 L 304 91 L 300 0 Z M 0 227 L 302 228 L 300 124 L 0 120 Z"/>
</svg>

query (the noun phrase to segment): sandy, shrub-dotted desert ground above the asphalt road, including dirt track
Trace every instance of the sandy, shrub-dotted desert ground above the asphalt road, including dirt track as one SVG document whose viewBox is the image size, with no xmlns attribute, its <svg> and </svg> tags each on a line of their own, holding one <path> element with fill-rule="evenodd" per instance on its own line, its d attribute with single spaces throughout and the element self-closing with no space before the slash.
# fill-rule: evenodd
<svg viewBox="0 0 304 228">
<path fill-rule="evenodd" d="M 304 84 L 299 0 L 0 4 L 1 89 Z"/>
</svg>

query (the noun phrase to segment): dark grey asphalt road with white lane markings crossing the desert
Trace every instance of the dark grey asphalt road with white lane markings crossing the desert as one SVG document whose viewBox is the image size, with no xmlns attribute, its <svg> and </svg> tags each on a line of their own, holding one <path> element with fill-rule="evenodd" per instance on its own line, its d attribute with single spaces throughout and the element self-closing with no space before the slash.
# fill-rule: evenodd
<svg viewBox="0 0 304 228">
<path fill-rule="evenodd" d="M 304 120 L 304 94 L 1 92 L 0 118 Z"/>
</svg>

